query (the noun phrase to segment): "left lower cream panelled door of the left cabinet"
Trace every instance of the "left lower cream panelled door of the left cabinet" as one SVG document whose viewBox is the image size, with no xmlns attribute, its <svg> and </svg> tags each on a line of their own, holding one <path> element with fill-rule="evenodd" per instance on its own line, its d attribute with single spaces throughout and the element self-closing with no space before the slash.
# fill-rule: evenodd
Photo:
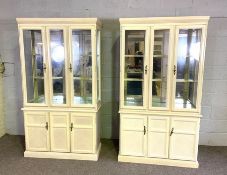
<svg viewBox="0 0 227 175">
<path fill-rule="evenodd" d="M 47 112 L 24 112 L 26 150 L 49 151 L 49 117 Z"/>
</svg>

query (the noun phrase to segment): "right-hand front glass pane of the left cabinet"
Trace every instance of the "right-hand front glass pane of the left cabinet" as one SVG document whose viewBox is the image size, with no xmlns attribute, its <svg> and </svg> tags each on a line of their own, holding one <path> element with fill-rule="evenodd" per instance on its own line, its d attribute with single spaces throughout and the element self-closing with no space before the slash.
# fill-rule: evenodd
<svg viewBox="0 0 227 175">
<path fill-rule="evenodd" d="M 91 30 L 72 30 L 73 103 L 92 104 Z"/>
</svg>

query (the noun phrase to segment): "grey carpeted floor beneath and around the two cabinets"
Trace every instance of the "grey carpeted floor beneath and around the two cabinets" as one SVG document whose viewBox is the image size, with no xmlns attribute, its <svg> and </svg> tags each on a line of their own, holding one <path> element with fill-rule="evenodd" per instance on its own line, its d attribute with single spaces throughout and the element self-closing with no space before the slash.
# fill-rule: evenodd
<svg viewBox="0 0 227 175">
<path fill-rule="evenodd" d="M 199 147 L 199 169 L 117 162 L 118 144 L 102 140 L 98 162 L 24 158 L 24 137 L 0 139 L 0 175 L 227 175 L 227 147 Z"/>
</svg>

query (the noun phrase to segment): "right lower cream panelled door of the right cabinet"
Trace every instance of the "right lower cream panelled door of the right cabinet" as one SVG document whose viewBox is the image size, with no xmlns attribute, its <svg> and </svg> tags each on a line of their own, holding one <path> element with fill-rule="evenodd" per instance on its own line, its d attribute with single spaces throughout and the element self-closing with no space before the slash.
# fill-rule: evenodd
<svg viewBox="0 0 227 175">
<path fill-rule="evenodd" d="M 199 119 L 172 118 L 169 157 L 197 161 Z"/>
</svg>

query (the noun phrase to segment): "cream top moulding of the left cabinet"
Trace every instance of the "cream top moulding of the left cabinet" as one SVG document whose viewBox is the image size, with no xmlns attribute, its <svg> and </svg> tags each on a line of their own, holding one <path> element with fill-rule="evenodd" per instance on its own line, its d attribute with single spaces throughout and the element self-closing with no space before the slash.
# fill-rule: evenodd
<svg viewBox="0 0 227 175">
<path fill-rule="evenodd" d="M 101 26 L 98 18 L 16 18 L 21 24 L 94 24 Z"/>
</svg>

